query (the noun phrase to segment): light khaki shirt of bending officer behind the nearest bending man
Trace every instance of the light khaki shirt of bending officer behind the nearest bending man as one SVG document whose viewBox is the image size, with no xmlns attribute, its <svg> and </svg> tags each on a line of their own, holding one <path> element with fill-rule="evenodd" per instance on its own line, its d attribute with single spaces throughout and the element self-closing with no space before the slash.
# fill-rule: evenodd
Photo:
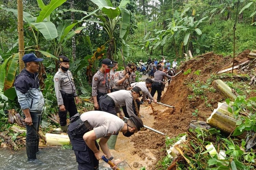
<svg viewBox="0 0 256 170">
<path fill-rule="evenodd" d="M 121 111 L 120 107 L 126 106 L 128 115 L 129 116 L 135 115 L 132 109 L 133 97 L 131 95 L 130 90 L 118 90 L 118 91 L 109 93 L 107 95 L 114 100 L 115 106 L 116 106 L 116 112 Z"/>
</svg>

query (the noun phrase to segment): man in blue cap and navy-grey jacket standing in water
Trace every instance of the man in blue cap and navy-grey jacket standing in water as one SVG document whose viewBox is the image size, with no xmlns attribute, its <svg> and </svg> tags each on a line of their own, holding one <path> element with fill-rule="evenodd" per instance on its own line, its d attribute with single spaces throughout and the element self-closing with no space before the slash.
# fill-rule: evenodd
<svg viewBox="0 0 256 170">
<path fill-rule="evenodd" d="M 44 97 L 39 88 L 37 72 L 39 62 L 44 59 L 30 53 L 25 54 L 22 60 L 25 63 L 25 69 L 15 78 L 14 87 L 22 109 L 22 116 L 25 118 L 27 130 L 26 152 L 28 160 L 31 161 L 37 159 L 36 153 L 39 151 L 39 136 L 36 131 L 39 131 L 40 127 Z"/>
</svg>

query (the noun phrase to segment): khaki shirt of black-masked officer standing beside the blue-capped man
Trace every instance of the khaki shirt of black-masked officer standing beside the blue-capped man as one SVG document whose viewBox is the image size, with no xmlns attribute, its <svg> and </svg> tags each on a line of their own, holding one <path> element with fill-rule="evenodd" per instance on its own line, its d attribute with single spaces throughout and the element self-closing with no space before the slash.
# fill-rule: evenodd
<svg viewBox="0 0 256 170">
<path fill-rule="evenodd" d="M 74 78 L 69 70 L 66 72 L 62 72 L 59 68 L 59 71 L 57 71 L 57 73 L 54 75 L 53 80 L 58 105 L 63 104 L 63 99 L 61 97 L 60 90 L 63 90 L 68 94 L 74 94 L 74 96 L 77 96 Z"/>
</svg>

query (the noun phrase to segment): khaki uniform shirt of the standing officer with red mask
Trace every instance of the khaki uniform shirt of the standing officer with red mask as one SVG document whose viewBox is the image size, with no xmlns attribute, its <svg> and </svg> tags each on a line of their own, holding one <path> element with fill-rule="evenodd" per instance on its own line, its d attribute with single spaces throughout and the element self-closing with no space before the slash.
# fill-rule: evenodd
<svg viewBox="0 0 256 170">
<path fill-rule="evenodd" d="M 108 90 L 110 89 L 109 73 L 104 77 L 104 74 L 98 70 L 93 76 L 92 96 L 97 96 L 98 92 L 108 93 Z"/>
</svg>

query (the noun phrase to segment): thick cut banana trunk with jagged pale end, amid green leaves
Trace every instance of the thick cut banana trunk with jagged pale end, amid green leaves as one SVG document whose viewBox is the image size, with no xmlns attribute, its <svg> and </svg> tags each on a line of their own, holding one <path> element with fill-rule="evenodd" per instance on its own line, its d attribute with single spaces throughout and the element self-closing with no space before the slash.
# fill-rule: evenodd
<svg viewBox="0 0 256 170">
<path fill-rule="evenodd" d="M 230 134 L 236 128 L 237 121 L 241 119 L 240 116 L 238 116 L 238 119 L 235 119 L 233 115 L 228 112 L 227 108 L 228 105 L 226 103 L 219 103 L 218 108 L 214 109 L 211 116 L 207 119 L 207 123 L 222 132 Z M 238 139 L 245 139 L 246 132 L 236 137 Z"/>
</svg>

